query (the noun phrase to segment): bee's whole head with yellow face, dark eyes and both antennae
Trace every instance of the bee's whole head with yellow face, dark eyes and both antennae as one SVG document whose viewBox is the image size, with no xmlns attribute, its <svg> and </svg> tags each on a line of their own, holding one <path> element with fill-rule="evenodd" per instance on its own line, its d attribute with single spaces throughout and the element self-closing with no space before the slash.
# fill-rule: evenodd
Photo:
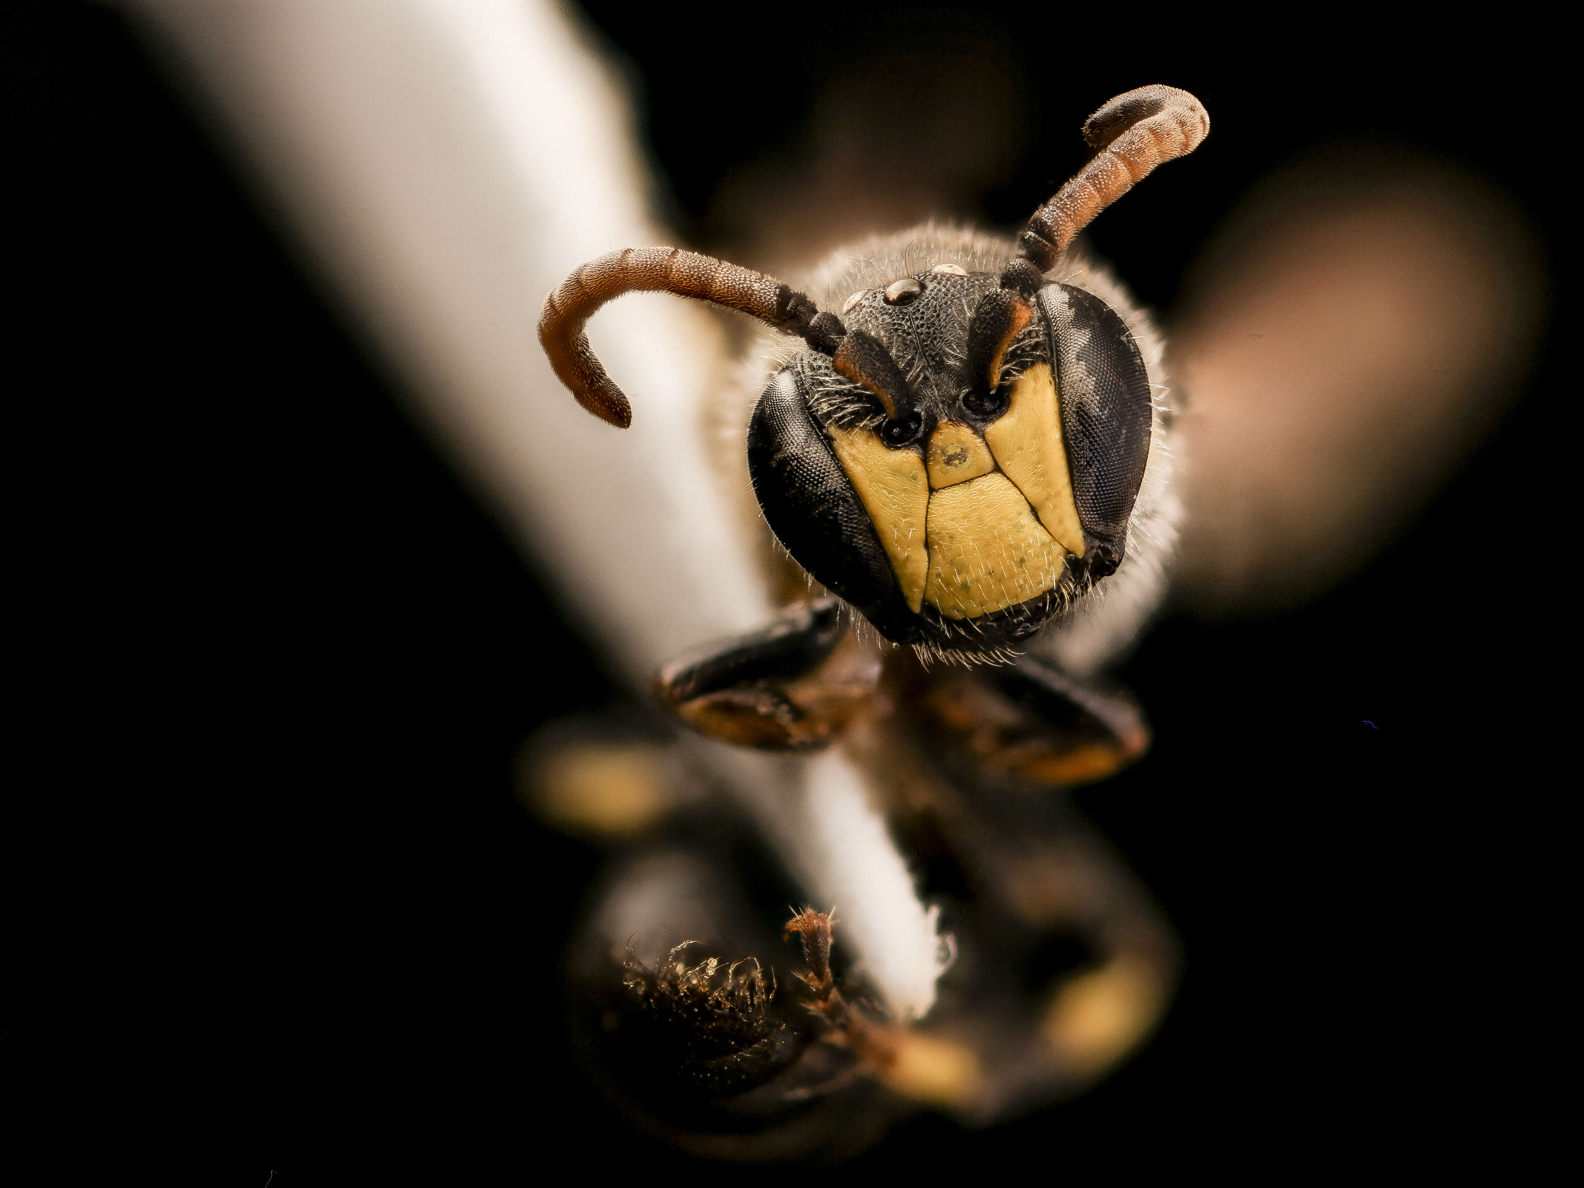
<svg viewBox="0 0 1584 1188">
<path fill-rule="evenodd" d="M 744 268 L 676 249 L 611 252 L 545 301 L 539 337 L 589 412 L 627 398 L 583 325 L 662 290 L 800 336 L 748 431 L 765 520 L 890 640 L 995 654 L 1114 573 L 1150 450 L 1150 385 L 1126 325 L 1047 279 L 1099 211 L 1209 133 L 1174 87 L 1118 95 L 1083 125 L 1096 157 L 1030 219 L 1001 272 L 957 265 L 854 293 L 840 315 Z"/>
</svg>

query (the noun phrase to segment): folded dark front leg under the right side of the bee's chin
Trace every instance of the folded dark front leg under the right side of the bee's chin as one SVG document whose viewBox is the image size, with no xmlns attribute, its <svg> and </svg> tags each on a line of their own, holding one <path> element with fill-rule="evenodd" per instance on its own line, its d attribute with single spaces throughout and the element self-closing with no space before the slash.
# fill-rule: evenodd
<svg viewBox="0 0 1584 1188">
<path fill-rule="evenodd" d="M 938 670 L 912 697 L 944 757 L 976 779 L 1090 784 L 1150 746 L 1144 713 L 1126 691 L 1080 683 L 1038 656 L 1000 668 Z"/>
</svg>

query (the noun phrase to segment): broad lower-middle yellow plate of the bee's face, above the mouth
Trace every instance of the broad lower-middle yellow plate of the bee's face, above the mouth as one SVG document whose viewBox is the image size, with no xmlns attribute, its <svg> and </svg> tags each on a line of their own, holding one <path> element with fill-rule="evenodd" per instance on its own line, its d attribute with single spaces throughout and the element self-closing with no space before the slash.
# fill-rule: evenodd
<svg viewBox="0 0 1584 1188">
<path fill-rule="evenodd" d="M 925 597 L 949 619 L 1026 602 L 1055 586 L 1066 565 L 1066 550 L 998 474 L 930 496 L 928 546 Z"/>
</svg>

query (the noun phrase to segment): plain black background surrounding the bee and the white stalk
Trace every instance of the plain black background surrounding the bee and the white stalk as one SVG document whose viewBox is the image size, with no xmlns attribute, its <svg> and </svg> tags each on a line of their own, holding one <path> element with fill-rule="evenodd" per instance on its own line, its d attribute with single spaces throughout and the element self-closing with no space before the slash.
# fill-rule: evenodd
<svg viewBox="0 0 1584 1188">
<path fill-rule="evenodd" d="M 865 46 L 968 11 L 840 10 L 686 30 L 665 6 L 589 10 L 683 233 L 710 239 L 719 181 L 795 144 Z M 1082 160 L 1077 124 L 1120 89 L 1171 81 L 1213 112 L 1205 149 L 1150 182 L 1175 222 L 1123 204 L 1095 228 L 1156 307 L 1294 147 L 1380 138 L 1506 187 L 1565 276 L 1554 32 L 976 11 L 1023 55 L 1007 70 L 1038 130 L 980 195 L 993 222 Z M 680 1171 L 572 1071 L 558 968 L 600 855 L 512 794 L 537 724 L 616 699 L 597 657 L 138 32 L 11 5 L 3 36 L 0 1068 L 29 1140 L 0 1158 L 258 1185 L 399 1180 L 432 1155 Z M 722 103 L 732 87 L 749 98 Z M 1172 618 L 1123 673 L 1155 751 L 1082 805 L 1185 939 L 1155 1044 L 1058 1110 L 980 1134 L 925 1115 L 827 1174 L 1285 1177 L 1536 1150 L 1576 781 L 1548 762 L 1573 729 L 1548 710 L 1571 699 L 1557 290 L 1516 412 L 1405 535 L 1300 610 Z"/>
</svg>

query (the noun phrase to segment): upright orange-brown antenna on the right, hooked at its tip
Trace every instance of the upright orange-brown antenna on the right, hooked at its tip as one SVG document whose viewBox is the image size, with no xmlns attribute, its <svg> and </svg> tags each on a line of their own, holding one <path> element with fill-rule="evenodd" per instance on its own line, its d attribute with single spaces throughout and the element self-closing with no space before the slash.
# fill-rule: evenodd
<svg viewBox="0 0 1584 1188">
<path fill-rule="evenodd" d="M 1017 255 L 1001 274 L 1001 287 L 1028 298 L 1072 236 L 1144 181 L 1158 165 L 1186 157 L 1210 133 L 1204 105 L 1177 87 L 1139 87 L 1106 103 L 1083 122 L 1095 158 L 1034 211 L 1019 236 Z"/>
</svg>

